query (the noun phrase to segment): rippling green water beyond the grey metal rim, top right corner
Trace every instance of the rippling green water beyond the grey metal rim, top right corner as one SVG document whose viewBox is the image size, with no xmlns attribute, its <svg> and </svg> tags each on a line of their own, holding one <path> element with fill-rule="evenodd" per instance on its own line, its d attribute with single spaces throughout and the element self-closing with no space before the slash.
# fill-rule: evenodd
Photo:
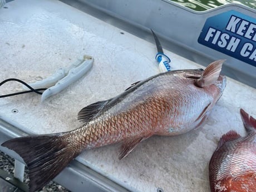
<svg viewBox="0 0 256 192">
<path fill-rule="evenodd" d="M 256 1 L 255 0 L 239 0 L 239 1 L 234 1 L 234 0 L 169 0 L 176 2 L 178 4 L 181 4 L 182 6 L 188 7 L 190 9 L 193 9 L 195 11 L 205 11 L 214 7 L 221 6 L 223 4 L 228 4 L 228 3 L 238 3 L 238 4 L 243 4 L 245 6 L 248 6 L 250 8 L 256 9 Z"/>
</svg>

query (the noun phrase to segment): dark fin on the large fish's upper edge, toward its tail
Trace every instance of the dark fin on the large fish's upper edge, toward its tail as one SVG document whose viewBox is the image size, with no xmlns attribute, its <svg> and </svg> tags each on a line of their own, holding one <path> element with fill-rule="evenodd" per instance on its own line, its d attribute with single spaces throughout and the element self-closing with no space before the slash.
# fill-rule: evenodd
<svg viewBox="0 0 256 192">
<path fill-rule="evenodd" d="M 111 99 L 110 99 L 111 100 Z M 96 117 L 110 100 L 98 101 L 88 105 L 78 112 L 77 119 L 81 122 L 88 122 Z"/>
</svg>

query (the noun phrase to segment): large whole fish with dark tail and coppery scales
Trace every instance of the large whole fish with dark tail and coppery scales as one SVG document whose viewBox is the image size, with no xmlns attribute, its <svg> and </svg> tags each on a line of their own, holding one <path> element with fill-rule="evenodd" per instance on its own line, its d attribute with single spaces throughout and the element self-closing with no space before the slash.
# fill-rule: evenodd
<svg viewBox="0 0 256 192">
<path fill-rule="evenodd" d="M 29 191 L 42 188 L 83 150 L 122 142 L 122 159 L 152 135 L 179 135 L 200 126 L 225 88 L 223 61 L 136 82 L 119 96 L 83 108 L 78 119 L 85 124 L 78 129 L 19 137 L 2 146 L 26 162 Z"/>
</svg>

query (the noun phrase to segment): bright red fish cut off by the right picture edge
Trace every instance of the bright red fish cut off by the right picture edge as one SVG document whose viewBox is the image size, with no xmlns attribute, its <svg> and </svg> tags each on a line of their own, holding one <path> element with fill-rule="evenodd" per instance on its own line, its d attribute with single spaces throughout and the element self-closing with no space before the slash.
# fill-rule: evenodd
<svg viewBox="0 0 256 192">
<path fill-rule="evenodd" d="M 256 120 L 240 110 L 248 135 L 223 135 L 209 164 L 211 192 L 256 191 Z"/>
</svg>

